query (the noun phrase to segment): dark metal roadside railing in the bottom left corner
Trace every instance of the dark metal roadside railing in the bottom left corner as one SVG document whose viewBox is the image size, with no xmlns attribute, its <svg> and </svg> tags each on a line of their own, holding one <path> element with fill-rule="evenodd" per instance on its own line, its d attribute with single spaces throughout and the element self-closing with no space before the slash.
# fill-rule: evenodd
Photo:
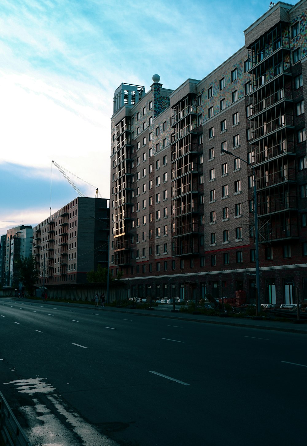
<svg viewBox="0 0 307 446">
<path fill-rule="evenodd" d="M 0 392 L 0 446 L 32 446 Z"/>
</svg>

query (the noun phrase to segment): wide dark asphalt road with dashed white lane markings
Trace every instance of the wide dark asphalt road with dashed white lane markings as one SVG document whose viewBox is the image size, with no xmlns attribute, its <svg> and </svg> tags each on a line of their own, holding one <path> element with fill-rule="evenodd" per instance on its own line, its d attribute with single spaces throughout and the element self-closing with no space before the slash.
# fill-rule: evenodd
<svg viewBox="0 0 307 446">
<path fill-rule="evenodd" d="M 306 335 L 2 298 L 0 336 L 33 446 L 306 442 Z"/>
</svg>

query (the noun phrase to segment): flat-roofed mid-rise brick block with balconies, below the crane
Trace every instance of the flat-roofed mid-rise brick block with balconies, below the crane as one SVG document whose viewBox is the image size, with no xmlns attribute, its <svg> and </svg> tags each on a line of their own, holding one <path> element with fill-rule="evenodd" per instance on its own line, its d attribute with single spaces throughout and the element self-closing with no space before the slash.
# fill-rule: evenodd
<svg viewBox="0 0 307 446">
<path fill-rule="evenodd" d="M 86 273 L 108 265 L 109 199 L 77 197 L 33 229 L 36 285 L 86 283 Z"/>
</svg>

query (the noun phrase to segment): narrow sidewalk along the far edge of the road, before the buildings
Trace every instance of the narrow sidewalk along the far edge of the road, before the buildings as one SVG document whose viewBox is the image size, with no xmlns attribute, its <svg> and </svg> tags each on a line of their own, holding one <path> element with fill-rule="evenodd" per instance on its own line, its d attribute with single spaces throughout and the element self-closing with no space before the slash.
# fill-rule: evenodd
<svg viewBox="0 0 307 446">
<path fill-rule="evenodd" d="M 8 297 L 9 298 L 9 297 Z M 18 301 L 18 298 L 11 297 L 11 299 Z M 20 303 L 22 301 L 28 302 L 36 302 L 42 303 L 40 300 L 35 299 L 20 299 Z M 275 331 L 284 331 L 288 333 L 300 333 L 307 334 L 307 322 L 297 324 L 294 323 L 293 320 L 289 320 L 286 322 L 280 321 L 268 321 L 266 319 L 262 320 L 254 320 L 252 318 L 234 318 L 231 316 L 228 317 L 218 317 L 218 316 L 206 316 L 205 314 L 188 314 L 188 313 L 172 313 L 170 311 L 170 306 L 166 306 L 166 309 L 159 307 L 154 307 L 154 310 L 137 310 L 137 308 L 116 308 L 110 306 L 95 306 L 90 304 L 78 304 L 76 303 L 66 303 L 66 302 L 53 302 L 52 300 L 44 302 L 44 305 L 60 305 L 60 306 L 69 306 L 74 308 L 84 308 L 98 311 L 113 311 L 117 313 L 129 313 L 135 314 L 137 316 L 147 316 L 147 317 L 156 317 L 156 318 L 166 318 L 166 319 L 177 319 L 182 321 L 190 321 L 190 322 L 200 322 L 207 324 L 217 324 L 217 325 L 228 325 L 228 326 L 237 326 L 237 327 L 248 327 L 248 328 L 256 328 L 260 330 L 275 330 Z"/>
</svg>

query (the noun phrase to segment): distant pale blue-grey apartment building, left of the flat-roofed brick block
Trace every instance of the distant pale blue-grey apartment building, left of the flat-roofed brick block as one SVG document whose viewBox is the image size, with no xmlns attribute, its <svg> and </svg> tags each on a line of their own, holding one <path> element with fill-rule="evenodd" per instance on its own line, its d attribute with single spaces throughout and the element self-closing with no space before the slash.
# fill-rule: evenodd
<svg viewBox="0 0 307 446">
<path fill-rule="evenodd" d="M 2 237 L 1 237 L 2 239 Z M 8 229 L 5 244 L 5 277 L 4 288 L 17 288 L 20 286 L 18 268 L 15 260 L 32 256 L 32 226 L 16 226 Z"/>
</svg>

